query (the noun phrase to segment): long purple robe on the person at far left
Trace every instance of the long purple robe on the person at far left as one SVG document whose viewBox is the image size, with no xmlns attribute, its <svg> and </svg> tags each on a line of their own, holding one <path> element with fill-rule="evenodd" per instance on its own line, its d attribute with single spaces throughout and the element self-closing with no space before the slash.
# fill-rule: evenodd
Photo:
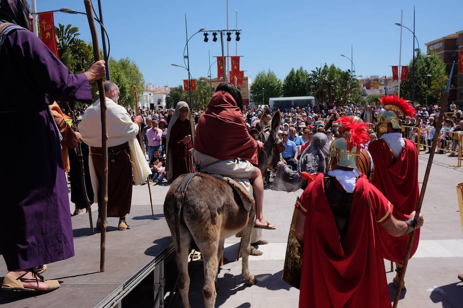
<svg viewBox="0 0 463 308">
<path fill-rule="evenodd" d="M 0 252 L 9 271 L 74 256 L 54 100 L 92 103 L 84 74 L 69 74 L 27 30 L 0 47 Z"/>
</svg>

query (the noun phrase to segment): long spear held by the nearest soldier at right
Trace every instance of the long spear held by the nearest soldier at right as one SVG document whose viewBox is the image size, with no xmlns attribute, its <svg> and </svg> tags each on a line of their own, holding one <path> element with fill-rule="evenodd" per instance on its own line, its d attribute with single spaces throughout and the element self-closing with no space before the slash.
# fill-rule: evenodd
<svg viewBox="0 0 463 308">
<path fill-rule="evenodd" d="M 449 100 L 450 80 L 452 79 L 454 66 L 455 66 L 455 61 L 453 62 L 452 69 L 450 70 L 449 81 L 447 82 L 447 88 L 446 88 L 446 91 L 444 92 L 443 100 L 440 103 L 439 119 L 437 120 L 437 123 L 436 123 L 436 131 L 434 133 L 433 144 L 431 146 L 431 152 L 429 154 L 428 166 L 426 166 L 426 172 L 424 172 L 424 180 L 421 186 L 420 199 L 418 201 L 418 206 L 416 208 L 416 214 L 414 218 L 415 225 L 417 223 L 418 217 L 420 216 L 421 205 L 423 204 L 423 199 L 424 199 L 424 192 L 426 191 L 426 186 L 428 185 L 429 174 L 431 172 L 431 166 L 433 164 L 434 152 L 436 151 L 437 140 L 439 138 L 440 128 L 442 127 L 442 119 L 444 115 L 444 110 L 446 110 L 447 102 Z M 397 291 L 396 291 L 396 297 L 394 298 L 393 308 L 397 308 L 397 305 L 399 303 L 399 297 L 400 297 L 400 293 L 402 292 L 402 287 L 403 287 L 403 279 L 405 277 L 405 271 L 407 270 L 407 265 L 408 265 L 408 260 L 410 259 L 410 254 L 412 252 L 412 246 L 413 246 L 414 239 L 415 239 L 415 230 L 413 230 L 413 232 L 410 234 L 410 238 L 408 239 L 407 254 L 405 255 L 405 260 L 403 262 L 402 274 L 400 275 L 399 287 L 397 288 Z"/>
</svg>

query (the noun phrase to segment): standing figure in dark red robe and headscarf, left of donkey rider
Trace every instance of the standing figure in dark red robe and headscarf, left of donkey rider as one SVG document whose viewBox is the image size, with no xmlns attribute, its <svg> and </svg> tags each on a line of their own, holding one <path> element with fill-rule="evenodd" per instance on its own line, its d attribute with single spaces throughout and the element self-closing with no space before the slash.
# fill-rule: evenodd
<svg viewBox="0 0 463 308">
<path fill-rule="evenodd" d="M 172 182 L 178 176 L 194 172 L 193 148 L 194 120 L 190 107 L 185 102 L 178 102 L 169 121 L 166 136 L 166 175 Z"/>
</svg>

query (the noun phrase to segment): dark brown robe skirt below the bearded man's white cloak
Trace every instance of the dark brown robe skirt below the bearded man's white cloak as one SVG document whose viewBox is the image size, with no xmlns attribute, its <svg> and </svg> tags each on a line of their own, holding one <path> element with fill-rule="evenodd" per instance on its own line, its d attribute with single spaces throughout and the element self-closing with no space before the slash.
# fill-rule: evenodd
<svg viewBox="0 0 463 308">
<path fill-rule="evenodd" d="M 93 166 L 101 184 L 102 149 L 90 147 Z M 129 143 L 108 148 L 108 217 L 126 217 L 132 203 L 132 164 Z M 98 189 L 98 217 L 101 217 L 101 185 Z"/>
</svg>

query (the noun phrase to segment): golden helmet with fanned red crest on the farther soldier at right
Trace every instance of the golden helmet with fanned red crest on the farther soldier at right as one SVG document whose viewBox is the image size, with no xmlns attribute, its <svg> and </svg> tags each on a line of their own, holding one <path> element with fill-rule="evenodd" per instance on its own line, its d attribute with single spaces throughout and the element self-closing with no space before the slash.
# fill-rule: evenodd
<svg viewBox="0 0 463 308">
<path fill-rule="evenodd" d="M 416 110 L 402 98 L 399 98 L 396 93 L 391 96 L 384 95 L 380 99 L 384 106 L 384 111 L 378 115 L 378 131 L 379 133 L 387 132 L 387 123 L 390 123 L 394 129 L 401 129 L 400 117 L 414 117 Z"/>
</svg>

